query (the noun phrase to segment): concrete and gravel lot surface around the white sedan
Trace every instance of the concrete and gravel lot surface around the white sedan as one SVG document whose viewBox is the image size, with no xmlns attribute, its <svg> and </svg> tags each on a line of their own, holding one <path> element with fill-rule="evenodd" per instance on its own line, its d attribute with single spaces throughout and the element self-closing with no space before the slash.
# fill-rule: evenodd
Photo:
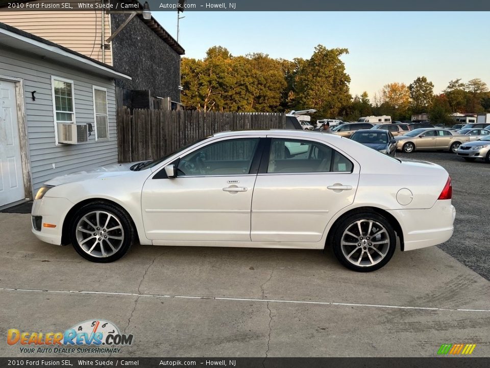
<svg viewBox="0 0 490 368">
<path fill-rule="evenodd" d="M 455 233 L 366 274 L 316 250 L 135 246 L 94 264 L 36 240 L 30 215 L 2 213 L 0 336 L 100 318 L 134 334 L 113 356 L 435 356 L 442 343 L 489 356 L 490 165 L 398 156 L 449 171 Z M 0 354 L 23 356 L 5 342 Z"/>
</svg>

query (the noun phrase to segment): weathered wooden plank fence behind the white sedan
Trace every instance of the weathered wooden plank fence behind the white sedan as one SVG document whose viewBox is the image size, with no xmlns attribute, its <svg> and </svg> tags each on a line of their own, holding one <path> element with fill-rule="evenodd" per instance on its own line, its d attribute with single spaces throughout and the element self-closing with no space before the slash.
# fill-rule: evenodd
<svg viewBox="0 0 490 368">
<path fill-rule="evenodd" d="M 283 129 L 282 113 L 117 110 L 119 162 L 156 159 L 198 139 L 227 130 Z"/>
</svg>

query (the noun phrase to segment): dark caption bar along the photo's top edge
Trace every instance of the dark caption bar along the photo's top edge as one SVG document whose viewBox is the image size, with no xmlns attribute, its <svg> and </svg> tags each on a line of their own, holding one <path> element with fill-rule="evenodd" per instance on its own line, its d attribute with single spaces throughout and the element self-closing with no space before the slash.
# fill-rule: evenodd
<svg viewBox="0 0 490 368">
<path fill-rule="evenodd" d="M 490 11 L 485 0 L 146 0 L 157 11 Z M 145 0 L 0 0 L 0 11 L 142 10 Z M 180 4 L 180 5 L 179 5 Z M 416 20 L 414 20 L 416 24 Z"/>
</svg>

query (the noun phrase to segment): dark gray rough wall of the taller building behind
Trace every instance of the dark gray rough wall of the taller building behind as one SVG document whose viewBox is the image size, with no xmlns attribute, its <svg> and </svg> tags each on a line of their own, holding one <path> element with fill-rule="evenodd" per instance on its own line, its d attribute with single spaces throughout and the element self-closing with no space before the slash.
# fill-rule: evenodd
<svg viewBox="0 0 490 368">
<path fill-rule="evenodd" d="M 114 32 L 127 18 L 111 14 Z M 138 17 L 112 40 L 114 67 L 130 75 L 131 81 L 117 80 L 126 89 L 149 89 L 151 96 L 170 97 L 180 102 L 180 55 L 146 26 Z M 144 55 L 145 57 L 141 57 Z"/>
</svg>

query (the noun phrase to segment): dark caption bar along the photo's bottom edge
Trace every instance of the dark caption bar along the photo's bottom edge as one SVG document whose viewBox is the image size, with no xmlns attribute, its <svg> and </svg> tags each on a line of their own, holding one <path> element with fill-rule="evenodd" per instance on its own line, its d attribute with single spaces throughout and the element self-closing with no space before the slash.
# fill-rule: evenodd
<svg viewBox="0 0 490 368">
<path fill-rule="evenodd" d="M 490 358 L 0 358 L 0 367 L 487 368 Z"/>
</svg>

